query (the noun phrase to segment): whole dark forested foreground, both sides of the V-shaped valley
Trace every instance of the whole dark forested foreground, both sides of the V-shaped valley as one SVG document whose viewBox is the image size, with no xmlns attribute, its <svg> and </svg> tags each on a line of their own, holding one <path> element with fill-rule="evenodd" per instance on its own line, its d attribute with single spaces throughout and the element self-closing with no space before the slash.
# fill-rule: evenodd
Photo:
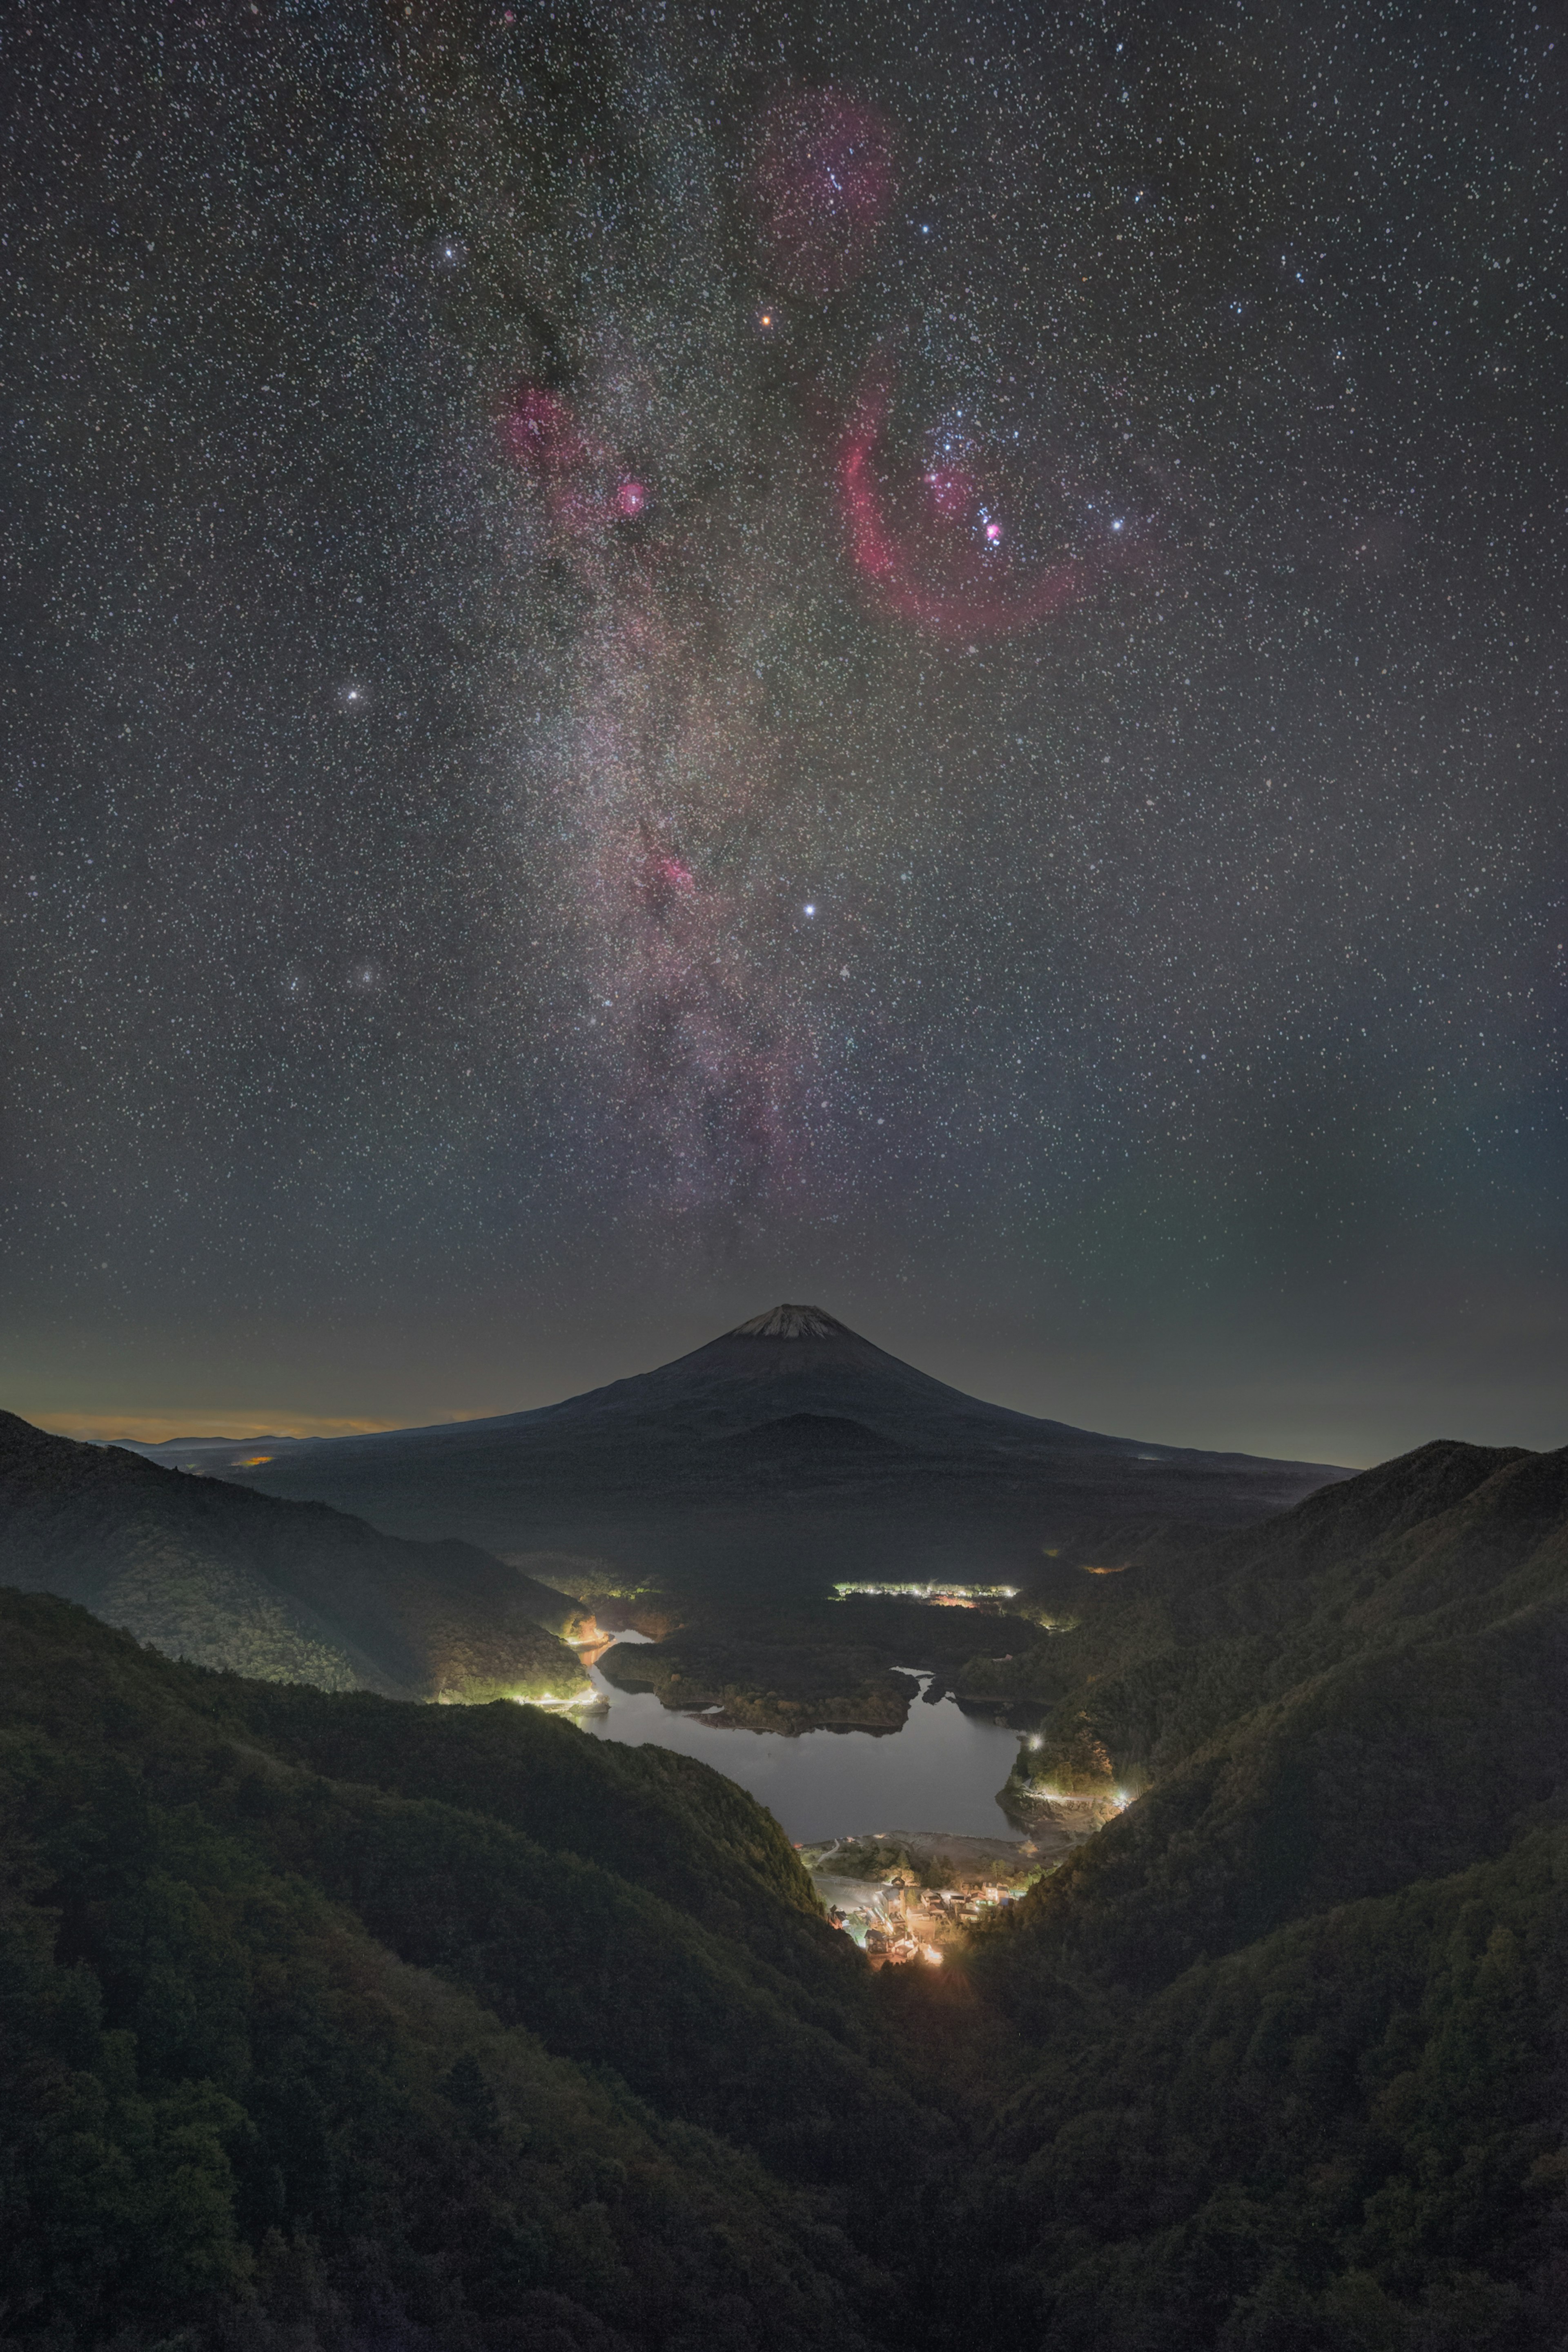
<svg viewBox="0 0 1568 2352">
<path fill-rule="evenodd" d="M 1143 1795 L 875 1980 L 701 1764 L 0 1595 L 5 2340 L 1561 2352 L 1568 1456 L 1091 1566 Z"/>
</svg>

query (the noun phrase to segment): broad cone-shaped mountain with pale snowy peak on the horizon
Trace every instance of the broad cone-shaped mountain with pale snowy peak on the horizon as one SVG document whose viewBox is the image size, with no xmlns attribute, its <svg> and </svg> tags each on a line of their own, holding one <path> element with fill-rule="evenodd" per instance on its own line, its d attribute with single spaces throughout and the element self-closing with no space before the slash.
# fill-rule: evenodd
<svg viewBox="0 0 1568 2352">
<path fill-rule="evenodd" d="M 1041 1541 L 1086 1522 L 1234 1526 L 1345 1475 L 983 1404 L 820 1308 L 773 1308 L 531 1414 L 289 1444 L 263 1463 L 219 1442 L 160 1451 L 404 1536 L 567 1555 L 548 1573 L 574 1590 L 656 1581 L 705 1602 L 809 1597 L 846 1576 L 1018 1581 Z"/>
</svg>

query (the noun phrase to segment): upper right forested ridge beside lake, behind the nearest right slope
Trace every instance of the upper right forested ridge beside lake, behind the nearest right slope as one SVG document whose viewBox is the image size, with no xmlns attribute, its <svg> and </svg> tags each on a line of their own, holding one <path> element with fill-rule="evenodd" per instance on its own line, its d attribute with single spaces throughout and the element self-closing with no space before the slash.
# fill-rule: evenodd
<svg viewBox="0 0 1568 2352">
<path fill-rule="evenodd" d="M 1025 1766 L 1152 1780 L 1032 1905 L 1051 1966 L 1150 1990 L 1568 1788 L 1568 1449 L 1422 1446 L 1164 1578 L 1178 1632 L 1086 1653 Z"/>
</svg>

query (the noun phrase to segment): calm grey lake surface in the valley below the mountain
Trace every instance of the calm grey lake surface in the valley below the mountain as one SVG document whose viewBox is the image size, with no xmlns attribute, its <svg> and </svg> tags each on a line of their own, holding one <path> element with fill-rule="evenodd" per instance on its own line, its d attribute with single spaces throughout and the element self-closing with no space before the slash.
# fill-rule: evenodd
<svg viewBox="0 0 1568 2352">
<path fill-rule="evenodd" d="M 675 1748 L 729 1773 L 766 1804 L 788 1837 L 853 1837 L 872 1830 L 947 1830 L 1018 1837 L 997 1804 L 1018 1733 L 976 1722 L 952 1698 L 917 1700 L 903 1731 L 722 1731 L 701 1715 L 672 1715 L 651 1691 L 618 1691 L 597 1668 L 609 1715 L 583 1729 L 632 1748 Z M 924 1686 L 924 1675 L 922 1675 Z"/>
</svg>

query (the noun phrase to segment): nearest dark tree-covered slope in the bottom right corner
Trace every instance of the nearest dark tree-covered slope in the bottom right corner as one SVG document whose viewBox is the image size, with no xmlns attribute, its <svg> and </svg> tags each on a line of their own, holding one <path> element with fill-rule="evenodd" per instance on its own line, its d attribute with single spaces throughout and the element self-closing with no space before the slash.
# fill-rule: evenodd
<svg viewBox="0 0 1568 2352">
<path fill-rule="evenodd" d="M 1023 1964 L 1039 2049 L 952 2216 L 994 2340 L 1561 2352 L 1561 1818 L 1143 2002 Z"/>
</svg>

